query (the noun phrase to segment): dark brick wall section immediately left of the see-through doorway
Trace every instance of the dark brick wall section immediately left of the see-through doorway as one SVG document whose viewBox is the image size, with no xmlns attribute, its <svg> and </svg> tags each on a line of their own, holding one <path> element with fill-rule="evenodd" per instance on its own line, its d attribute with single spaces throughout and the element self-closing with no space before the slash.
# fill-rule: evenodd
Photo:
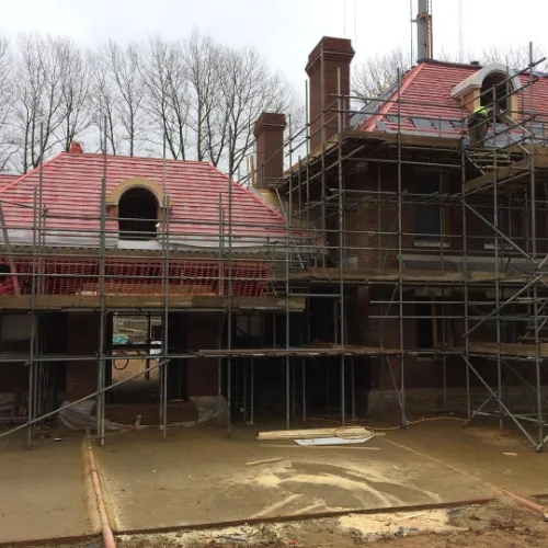
<svg viewBox="0 0 548 548">
<path fill-rule="evenodd" d="M 71 312 L 68 319 L 67 355 L 96 355 L 99 349 L 99 313 Z M 67 399 L 88 396 L 98 387 L 98 362 L 67 363 Z"/>
</svg>

